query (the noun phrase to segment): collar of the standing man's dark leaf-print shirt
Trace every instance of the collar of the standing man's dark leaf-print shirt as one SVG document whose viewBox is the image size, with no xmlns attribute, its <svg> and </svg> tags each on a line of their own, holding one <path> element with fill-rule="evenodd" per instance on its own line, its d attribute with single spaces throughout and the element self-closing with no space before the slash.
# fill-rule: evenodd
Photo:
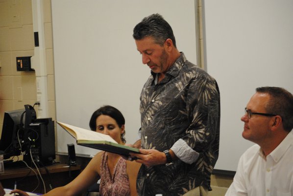
<svg viewBox="0 0 293 196">
<path fill-rule="evenodd" d="M 180 52 L 180 56 L 176 59 L 176 61 L 173 63 L 173 65 L 171 65 L 169 70 L 166 72 L 165 78 L 168 78 L 168 80 L 169 80 L 170 76 L 176 77 L 179 74 L 185 61 L 186 61 L 186 57 L 185 57 L 184 53 Z M 152 71 L 150 73 L 152 74 L 153 79 L 155 79 L 155 81 L 157 81 L 159 73 L 153 73 Z"/>
</svg>

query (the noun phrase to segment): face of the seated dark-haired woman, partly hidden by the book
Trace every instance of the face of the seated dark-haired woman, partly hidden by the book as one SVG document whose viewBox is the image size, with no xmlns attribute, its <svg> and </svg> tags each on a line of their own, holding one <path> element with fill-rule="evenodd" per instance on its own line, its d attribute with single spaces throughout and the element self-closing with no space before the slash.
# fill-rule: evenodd
<svg viewBox="0 0 293 196">
<path fill-rule="evenodd" d="M 123 144 L 121 140 L 121 134 L 124 133 L 124 124 L 120 128 L 115 119 L 107 115 L 98 116 L 96 119 L 96 124 L 96 131 L 98 133 L 109 135 L 118 144 Z"/>
</svg>

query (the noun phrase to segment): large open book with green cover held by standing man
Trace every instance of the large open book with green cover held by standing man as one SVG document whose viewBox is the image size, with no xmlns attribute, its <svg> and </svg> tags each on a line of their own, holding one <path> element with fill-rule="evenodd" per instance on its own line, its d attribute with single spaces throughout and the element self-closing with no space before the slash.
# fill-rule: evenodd
<svg viewBox="0 0 293 196">
<path fill-rule="evenodd" d="M 66 123 L 57 123 L 62 128 L 64 128 L 70 135 L 72 135 L 73 138 L 75 138 L 77 145 L 121 154 L 126 157 L 129 156 L 129 152 L 140 153 L 138 148 L 118 144 L 109 135 L 98 133 L 96 131 L 90 131 Z"/>
</svg>

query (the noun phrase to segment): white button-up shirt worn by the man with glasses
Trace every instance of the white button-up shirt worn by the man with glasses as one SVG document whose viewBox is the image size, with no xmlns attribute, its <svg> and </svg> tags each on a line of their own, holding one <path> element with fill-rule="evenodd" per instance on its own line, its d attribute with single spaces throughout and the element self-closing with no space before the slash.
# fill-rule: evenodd
<svg viewBox="0 0 293 196">
<path fill-rule="evenodd" d="M 248 148 L 225 196 L 293 196 L 293 131 L 267 158 L 258 145 Z"/>
</svg>

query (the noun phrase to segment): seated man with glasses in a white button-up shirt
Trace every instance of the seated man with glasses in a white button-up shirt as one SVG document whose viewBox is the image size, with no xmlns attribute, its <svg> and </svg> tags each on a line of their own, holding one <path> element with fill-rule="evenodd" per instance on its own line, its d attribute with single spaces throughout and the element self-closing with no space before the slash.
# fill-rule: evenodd
<svg viewBox="0 0 293 196">
<path fill-rule="evenodd" d="M 242 136 L 256 145 L 241 156 L 225 196 L 293 196 L 293 95 L 257 88 L 241 121 Z"/>
</svg>

